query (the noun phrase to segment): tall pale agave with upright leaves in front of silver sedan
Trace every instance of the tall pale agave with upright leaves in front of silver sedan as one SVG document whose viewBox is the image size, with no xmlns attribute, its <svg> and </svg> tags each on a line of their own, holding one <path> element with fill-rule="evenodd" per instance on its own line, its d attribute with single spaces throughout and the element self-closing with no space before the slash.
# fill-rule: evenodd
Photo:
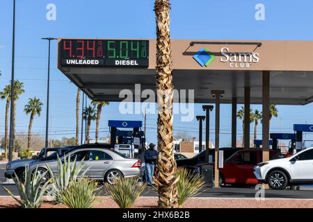
<svg viewBox="0 0 313 222">
<path fill-rule="evenodd" d="M 63 191 L 65 191 L 70 186 L 71 182 L 77 181 L 78 177 L 83 177 L 86 174 L 87 169 L 81 173 L 81 170 L 83 169 L 83 164 L 77 165 L 76 157 L 74 161 L 71 162 L 70 155 L 65 156 L 63 160 L 61 160 L 61 158 L 57 156 L 57 162 L 57 173 L 54 173 L 49 165 L 47 165 L 47 168 L 49 171 L 49 175 L 51 176 L 51 179 L 53 181 L 52 189 L 54 191 L 54 194 L 56 195 L 56 200 L 61 201 L 60 198 Z"/>
</svg>

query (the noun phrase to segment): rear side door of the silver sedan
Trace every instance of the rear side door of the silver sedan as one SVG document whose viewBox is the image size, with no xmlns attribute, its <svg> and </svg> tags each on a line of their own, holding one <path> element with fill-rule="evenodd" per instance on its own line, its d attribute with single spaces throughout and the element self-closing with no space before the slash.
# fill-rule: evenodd
<svg viewBox="0 0 313 222">
<path fill-rule="evenodd" d="M 103 179 L 104 173 L 114 162 L 113 157 L 105 151 L 90 150 L 89 152 L 89 160 L 86 162 L 88 176 L 93 179 Z"/>
</svg>

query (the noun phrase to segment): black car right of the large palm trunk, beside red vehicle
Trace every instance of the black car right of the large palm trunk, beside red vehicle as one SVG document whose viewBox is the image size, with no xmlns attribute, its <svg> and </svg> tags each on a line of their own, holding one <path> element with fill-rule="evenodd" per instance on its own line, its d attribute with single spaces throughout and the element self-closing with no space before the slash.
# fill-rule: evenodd
<svg viewBox="0 0 313 222">
<path fill-rule="evenodd" d="M 223 151 L 224 160 L 227 160 L 231 155 L 236 153 L 236 151 L 239 151 L 241 149 L 242 148 L 223 147 L 223 148 L 220 148 L 220 151 Z M 214 151 L 215 151 L 214 148 L 209 149 L 209 155 L 212 156 L 212 162 L 214 162 L 215 160 Z M 191 170 L 195 167 L 195 165 L 202 164 L 204 162 L 205 162 L 205 151 L 202 151 L 201 153 L 198 153 L 197 155 L 191 158 L 176 160 L 177 167 L 185 167 L 186 169 L 191 169 Z"/>
</svg>

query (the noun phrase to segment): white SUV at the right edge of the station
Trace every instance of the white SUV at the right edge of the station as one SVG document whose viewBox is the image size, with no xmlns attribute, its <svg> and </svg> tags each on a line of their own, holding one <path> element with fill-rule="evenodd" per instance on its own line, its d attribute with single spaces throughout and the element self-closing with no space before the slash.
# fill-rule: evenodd
<svg viewBox="0 0 313 222">
<path fill-rule="evenodd" d="M 253 173 L 257 180 L 268 183 L 272 189 L 284 189 L 288 185 L 312 185 L 313 147 L 291 157 L 261 162 L 255 166 Z"/>
</svg>

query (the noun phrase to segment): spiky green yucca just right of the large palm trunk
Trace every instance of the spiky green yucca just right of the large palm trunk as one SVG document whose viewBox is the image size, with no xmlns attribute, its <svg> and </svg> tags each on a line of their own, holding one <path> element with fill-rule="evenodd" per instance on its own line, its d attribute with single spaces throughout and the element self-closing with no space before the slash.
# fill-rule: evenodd
<svg viewBox="0 0 313 222">
<path fill-rule="evenodd" d="M 187 169 L 177 169 L 177 193 L 178 205 L 182 207 L 185 201 L 198 193 L 205 185 L 204 178 L 200 174 L 192 173 Z"/>
</svg>

